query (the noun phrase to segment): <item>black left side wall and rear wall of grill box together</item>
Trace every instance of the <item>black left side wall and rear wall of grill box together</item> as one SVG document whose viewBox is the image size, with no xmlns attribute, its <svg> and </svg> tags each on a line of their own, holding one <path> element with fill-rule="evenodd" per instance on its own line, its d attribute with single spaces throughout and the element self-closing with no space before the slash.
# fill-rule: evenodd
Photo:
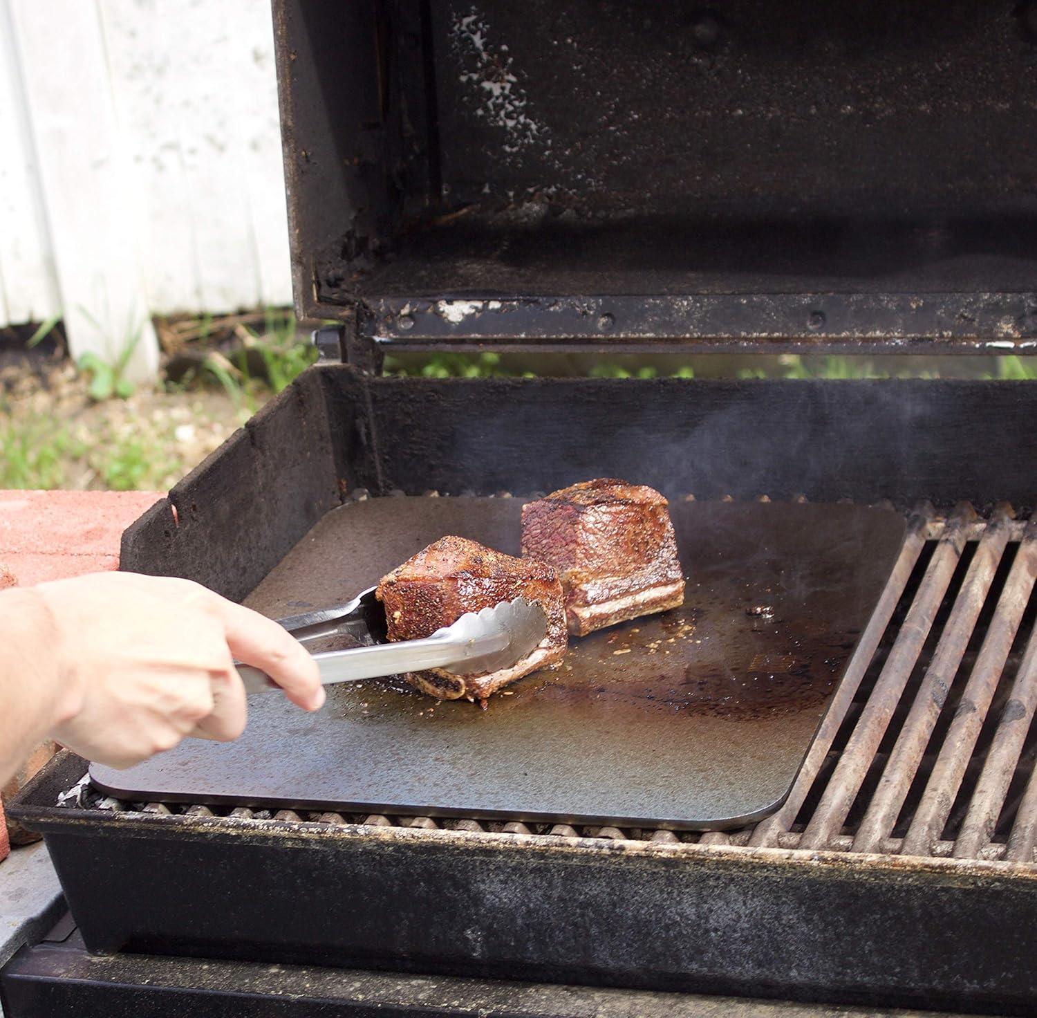
<svg viewBox="0 0 1037 1018">
<path fill-rule="evenodd" d="M 122 568 L 241 599 L 351 489 L 1037 501 L 1037 386 L 304 373 L 123 535 Z M 176 508 L 175 520 L 172 507 Z"/>
</svg>

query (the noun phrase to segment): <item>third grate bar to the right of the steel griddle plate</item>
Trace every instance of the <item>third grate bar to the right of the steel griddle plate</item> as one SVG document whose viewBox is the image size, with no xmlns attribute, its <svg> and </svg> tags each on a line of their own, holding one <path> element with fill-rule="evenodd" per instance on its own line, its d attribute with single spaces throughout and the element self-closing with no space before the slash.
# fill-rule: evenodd
<svg viewBox="0 0 1037 1018">
<path fill-rule="evenodd" d="M 944 627 L 932 661 L 915 695 L 882 777 L 853 838 L 854 852 L 874 852 L 889 837 L 940 718 L 954 677 L 961 666 L 976 622 L 986 603 L 1001 557 L 1008 544 L 1011 510 L 999 507 L 979 547 Z"/>
</svg>

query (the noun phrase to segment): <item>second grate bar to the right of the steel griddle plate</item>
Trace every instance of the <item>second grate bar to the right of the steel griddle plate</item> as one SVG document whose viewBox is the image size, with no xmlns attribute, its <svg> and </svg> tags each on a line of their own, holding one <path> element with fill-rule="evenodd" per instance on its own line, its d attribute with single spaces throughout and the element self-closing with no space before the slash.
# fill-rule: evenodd
<svg viewBox="0 0 1037 1018">
<path fill-rule="evenodd" d="M 965 525 L 974 518 L 975 510 L 961 504 L 948 520 L 890 656 L 807 824 L 801 848 L 823 848 L 842 829 L 943 604 L 964 550 Z"/>
</svg>

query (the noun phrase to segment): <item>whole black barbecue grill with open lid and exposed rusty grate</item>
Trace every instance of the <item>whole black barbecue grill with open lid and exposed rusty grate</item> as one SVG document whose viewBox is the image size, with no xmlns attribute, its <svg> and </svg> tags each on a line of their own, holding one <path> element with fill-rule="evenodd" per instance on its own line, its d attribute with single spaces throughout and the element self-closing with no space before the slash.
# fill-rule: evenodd
<svg viewBox="0 0 1037 1018">
<path fill-rule="evenodd" d="M 334 325 L 124 568 L 240 600 L 343 502 L 602 475 L 882 503 L 906 538 L 790 795 L 740 830 L 120 801 L 59 758 L 11 813 L 78 932 L 8 966 L 11 1014 L 263 1014 L 271 963 L 300 1015 L 1032 1014 L 1032 383 L 381 373 L 1026 353 L 1032 7 L 275 0 L 297 304 Z"/>
</svg>

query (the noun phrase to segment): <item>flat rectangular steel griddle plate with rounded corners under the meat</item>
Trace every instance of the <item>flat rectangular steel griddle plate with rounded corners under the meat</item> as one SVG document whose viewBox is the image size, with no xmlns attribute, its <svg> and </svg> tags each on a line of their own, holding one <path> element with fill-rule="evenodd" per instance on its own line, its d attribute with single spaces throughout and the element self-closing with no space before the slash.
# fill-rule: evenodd
<svg viewBox="0 0 1037 1018">
<path fill-rule="evenodd" d="M 517 554 L 518 499 L 334 510 L 248 604 L 345 601 L 442 536 Z M 717 828 L 784 801 L 904 533 L 856 505 L 677 502 L 684 607 L 576 639 L 481 711 L 390 682 L 329 687 L 314 716 L 250 697 L 229 745 L 188 739 L 95 785 L 131 800 Z"/>
</svg>

